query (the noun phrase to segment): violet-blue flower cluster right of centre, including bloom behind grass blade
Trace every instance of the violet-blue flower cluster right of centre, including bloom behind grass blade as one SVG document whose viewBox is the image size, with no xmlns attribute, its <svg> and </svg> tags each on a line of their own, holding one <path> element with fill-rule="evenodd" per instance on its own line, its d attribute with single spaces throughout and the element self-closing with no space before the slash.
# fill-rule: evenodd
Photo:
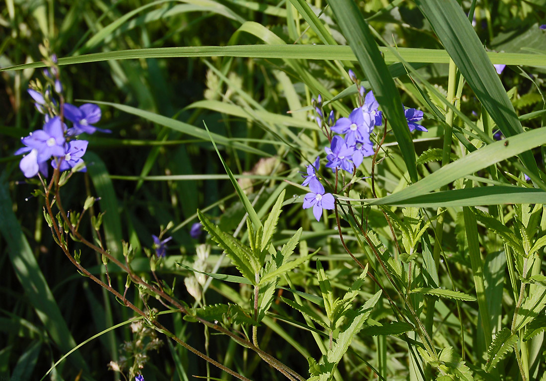
<svg viewBox="0 0 546 381">
<path fill-rule="evenodd" d="M 359 86 L 359 80 L 352 70 L 349 70 L 349 78 L 359 89 L 362 105 L 353 109 L 347 118 L 340 118 L 336 121 L 333 110 L 325 118 L 320 95 L 317 99 L 313 99 L 313 107 L 317 113 L 317 124 L 330 140 L 330 146 L 324 148 L 328 161 L 326 167 L 333 172 L 342 169 L 353 174 L 363 162 L 364 157 L 371 156 L 375 152 L 371 141 L 371 133 L 375 126 L 383 124 L 383 113 L 378 110 L 379 103 L 373 95 L 373 91 L 366 93 L 364 87 Z M 404 114 L 410 131 L 428 132 L 425 127 L 417 124 L 419 120 L 423 119 L 422 111 L 408 108 L 404 110 Z M 337 135 L 333 136 L 331 132 L 335 132 Z M 317 171 L 319 167 L 320 157 L 317 157 L 314 163 L 307 166 L 302 183 L 304 186 L 308 185 L 311 190 L 304 197 L 303 208 L 313 207 L 313 215 L 317 221 L 320 220 L 323 209 L 334 209 L 335 204 L 334 196 L 325 193 L 324 186 L 318 180 Z"/>
</svg>

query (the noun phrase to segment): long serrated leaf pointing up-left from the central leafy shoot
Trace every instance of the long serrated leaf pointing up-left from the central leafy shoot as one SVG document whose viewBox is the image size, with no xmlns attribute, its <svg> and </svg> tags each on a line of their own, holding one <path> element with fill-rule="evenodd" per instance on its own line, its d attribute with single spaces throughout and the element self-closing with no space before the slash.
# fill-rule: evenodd
<svg viewBox="0 0 546 381">
<path fill-rule="evenodd" d="M 225 254 L 232 260 L 235 267 L 251 284 L 256 284 L 255 274 L 258 272 L 259 265 L 250 249 L 245 247 L 238 239 L 224 233 L 218 226 L 212 224 L 200 210 L 197 210 L 197 215 L 205 230 L 209 232 L 219 247 L 224 249 Z"/>
</svg>

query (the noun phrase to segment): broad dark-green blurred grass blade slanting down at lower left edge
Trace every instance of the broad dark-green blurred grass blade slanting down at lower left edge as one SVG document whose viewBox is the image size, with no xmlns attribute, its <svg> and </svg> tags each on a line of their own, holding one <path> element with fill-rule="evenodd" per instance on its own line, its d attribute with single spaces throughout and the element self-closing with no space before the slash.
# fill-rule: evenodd
<svg viewBox="0 0 546 381">
<path fill-rule="evenodd" d="M 13 213 L 9 197 L 8 184 L 0 178 L 0 232 L 8 245 L 8 254 L 15 275 L 21 282 L 28 301 L 32 304 L 38 318 L 44 324 L 49 337 L 60 350 L 66 352 L 76 346 L 76 342 L 64 321 L 44 275 L 40 271 L 28 241 L 21 230 L 21 225 Z M 74 366 L 88 373 L 87 364 L 81 354 L 70 357 Z"/>
</svg>

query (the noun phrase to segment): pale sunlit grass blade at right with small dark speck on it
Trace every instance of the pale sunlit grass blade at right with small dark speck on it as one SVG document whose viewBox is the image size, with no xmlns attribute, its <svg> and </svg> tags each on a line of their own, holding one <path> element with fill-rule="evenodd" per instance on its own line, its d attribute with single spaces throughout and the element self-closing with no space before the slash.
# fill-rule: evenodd
<svg viewBox="0 0 546 381">
<path fill-rule="evenodd" d="M 438 169 L 424 179 L 412 184 L 400 192 L 379 198 L 370 202 L 372 205 L 389 204 L 405 201 L 408 198 L 423 195 L 440 188 L 442 185 L 449 184 L 467 174 L 472 174 L 480 169 L 509 159 L 531 148 L 546 144 L 546 128 L 536 128 L 535 130 L 520 133 L 516 136 L 506 138 L 501 142 L 495 142 L 480 148 L 473 153 L 462 157 L 447 166 Z M 541 187 L 546 190 L 546 186 Z"/>
</svg>

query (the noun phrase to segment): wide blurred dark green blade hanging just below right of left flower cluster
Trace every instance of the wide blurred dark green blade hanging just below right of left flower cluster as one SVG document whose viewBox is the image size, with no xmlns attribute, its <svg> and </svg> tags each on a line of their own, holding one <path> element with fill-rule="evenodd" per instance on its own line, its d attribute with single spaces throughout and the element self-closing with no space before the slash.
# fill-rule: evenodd
<svg viewBox="0 0 546 381">
<path fill-rule="evenodd" d="M 87 163 L 87 173 L 91 177 L 96 194 L 100 195 L 100 209 L 102 212 L 105 212 L 102 227 L 104 229 L 106 247 L 110 250 L 112 255 L 121 260 L 123 259 L 121 248 L 123 235 L 121 232 L 119 204 L 117 202 L 116 192 L 114 191 L 114 185 L 112 184 L 104 161 L 102 161 L 97 154 L 87 152 L 85 154 L 85 159 Z"/>
</svg>

